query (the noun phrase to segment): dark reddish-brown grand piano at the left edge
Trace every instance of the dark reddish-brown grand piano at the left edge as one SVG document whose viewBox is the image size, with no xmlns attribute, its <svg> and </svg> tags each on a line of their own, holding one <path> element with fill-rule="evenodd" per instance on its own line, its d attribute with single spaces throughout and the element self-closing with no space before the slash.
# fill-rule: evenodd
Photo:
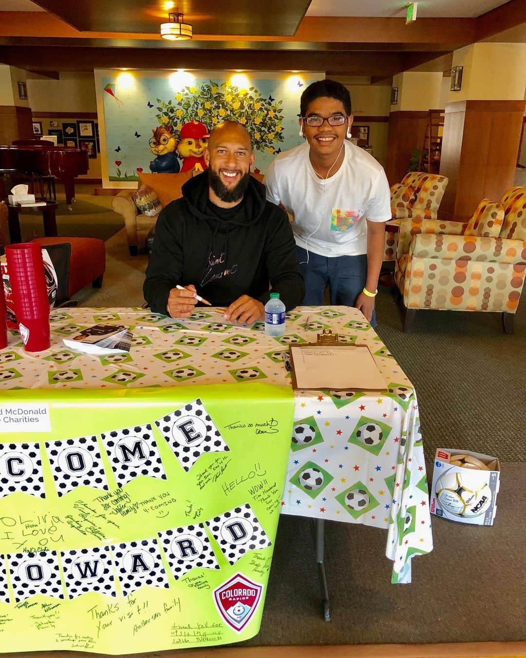
<svg viewBox="0 0 526 658">
<path fill-rule="evenodd" d="M 89 168 L 87 151 L 38 141 L 28 139 L 13 142 L 12 146 L 0 146 L 0 175 L 13 179 L 17 175 L 27 176 L 32 181 L 47 176 L 60 178 L 64 183 L 68 209 L 72 210 L 71 204 L 75 199 L 74 179 L 87 174 Z"/>
</svg>

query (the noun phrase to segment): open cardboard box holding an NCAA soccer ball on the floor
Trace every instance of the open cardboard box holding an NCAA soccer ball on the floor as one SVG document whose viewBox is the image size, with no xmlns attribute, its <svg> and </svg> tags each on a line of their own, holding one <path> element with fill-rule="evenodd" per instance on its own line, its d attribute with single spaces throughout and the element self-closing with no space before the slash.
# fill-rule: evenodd
<svg viewBox="0 0 526 658">
<path fill-rule="evenodd" d="M 500 488 L 496 457 L 439 448 L 435 453 L 431 513 L 461 523 L 492 526 Z"/>
</svg>

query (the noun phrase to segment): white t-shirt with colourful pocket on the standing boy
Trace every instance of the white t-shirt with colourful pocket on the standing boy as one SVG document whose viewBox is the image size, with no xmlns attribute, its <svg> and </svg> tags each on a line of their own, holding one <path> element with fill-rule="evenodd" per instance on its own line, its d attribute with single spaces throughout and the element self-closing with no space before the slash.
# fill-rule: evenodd
<svg viewBox="0 0 526 658">
<path fill-rule="evenodd" d="M 308 143 L 280 153 L 266 171 L 267 199 L 294 217 L 297 245 L 321 256 L 367 253 L 367 222 L 391 219 L 391 193 L 381 164 L 345 139 L 345 158 L 326 180 L 316 176 Z"/>
</svg>

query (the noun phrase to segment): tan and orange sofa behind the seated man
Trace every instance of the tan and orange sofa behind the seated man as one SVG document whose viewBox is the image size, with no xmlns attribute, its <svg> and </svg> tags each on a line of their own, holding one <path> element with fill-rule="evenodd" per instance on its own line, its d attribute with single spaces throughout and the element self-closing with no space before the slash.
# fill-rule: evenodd
<svg viewBox="0 0 526 658">
<path fill-rule="evenodd" d="M 150 235 L 151 238 L 155 234 L 153 229 L 158 216 L 150 217 L 139 213 L 132 198 L 133 193 L 143 186 L 147 186 L 155 192 L 160 201 L 160 207 L 164 208 L 170 201 L 181 197 L 181 188 L 192 177 L 192 174 L 192 171 L 179 174 L 145 174 L 141 172 L 137 188 L 122 190 L 113 198 L 114 211 L 124 217 L 131 256 L 136 256 L 139 251 L 146 249 L 148 236 Z M 260 182 L 263 180 L 262 174 L 251 172 L 251 175 Z"/>
</svg>

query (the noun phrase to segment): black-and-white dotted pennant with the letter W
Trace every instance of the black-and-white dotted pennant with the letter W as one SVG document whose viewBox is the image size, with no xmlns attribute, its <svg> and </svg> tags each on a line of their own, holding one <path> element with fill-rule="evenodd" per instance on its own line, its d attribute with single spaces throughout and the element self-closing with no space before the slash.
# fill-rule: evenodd
<svg viewBox="0 0 526 658">
<path fill-rule="evenodd" d="M 60 553 L 68 597 L 88 592 L 116 596 L 112 560 L 107 546 Z"/>
</svg>

